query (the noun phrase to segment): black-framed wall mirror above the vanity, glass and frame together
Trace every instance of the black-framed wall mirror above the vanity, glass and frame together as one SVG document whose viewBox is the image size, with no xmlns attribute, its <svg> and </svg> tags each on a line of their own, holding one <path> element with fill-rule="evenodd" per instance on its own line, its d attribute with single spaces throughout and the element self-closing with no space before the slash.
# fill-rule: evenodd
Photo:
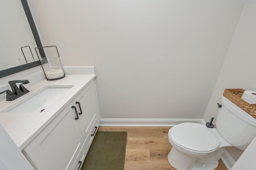
<svg viewBox="0 0 256 170">
<path fill-rule="evenodd" d="M 42 47 L 27 0 L 1 3 L 0 78 L 40 65 L 35 47 Z"/>
</svg>

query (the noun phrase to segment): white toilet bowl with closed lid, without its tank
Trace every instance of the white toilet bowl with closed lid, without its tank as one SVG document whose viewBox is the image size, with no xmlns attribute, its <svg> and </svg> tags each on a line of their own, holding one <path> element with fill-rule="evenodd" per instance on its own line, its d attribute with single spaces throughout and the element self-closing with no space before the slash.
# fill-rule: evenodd
<svg viewBox="0 0 256 170">
<path fill-rule="evenodd" d="M 170 128 L 168 140 L 173 147 L 168 161 L 178 170 L 213 170 L 218 166 L 222 147 L 232 146 L 216 128 L 209 129 L 198 123 L 181 123 Z M 197 168 L 191 168 L 192 165 Z"/>
</svg>

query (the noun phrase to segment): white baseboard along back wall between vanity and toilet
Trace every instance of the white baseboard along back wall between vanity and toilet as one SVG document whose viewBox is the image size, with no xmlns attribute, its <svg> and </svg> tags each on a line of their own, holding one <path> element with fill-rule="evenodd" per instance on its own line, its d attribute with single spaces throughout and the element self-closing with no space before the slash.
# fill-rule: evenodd
<svg viewBox="0 0 256 170">
<path fill-rule="evenodd" d="M 186 122 L 202 123 L 202 119 L 100 119 L 100 126 L 168 127 Z"/>
</svg>

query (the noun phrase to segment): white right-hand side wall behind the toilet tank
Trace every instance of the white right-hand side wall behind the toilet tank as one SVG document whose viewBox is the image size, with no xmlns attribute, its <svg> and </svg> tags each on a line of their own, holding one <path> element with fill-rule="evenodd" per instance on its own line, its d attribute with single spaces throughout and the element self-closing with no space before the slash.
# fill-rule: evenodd
<svg viewBox="0 0 256 170">
<path fill-rule="evenodd" d="M 230 44 L 226 59 L 223 63 L 218 81 L 210 98 L 204 115 L 207 122 L 218 112 L 216 103 L 224 89 L 241 88 L 256 91 L 256 2 L 244 6 L 233 40 Z M 214 121 L 215 124 L 215 121 Z M 241 150 L 230 147 L 227 149 L 236 160 Z"/>
</svg>

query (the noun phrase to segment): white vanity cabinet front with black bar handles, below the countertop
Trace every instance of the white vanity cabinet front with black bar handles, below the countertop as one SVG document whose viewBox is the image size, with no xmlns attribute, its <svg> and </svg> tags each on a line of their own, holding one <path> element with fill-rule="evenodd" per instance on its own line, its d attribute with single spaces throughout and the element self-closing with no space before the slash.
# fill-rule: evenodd
<svg viewBox="0 0 256 170">
<path fill-rule="evenodd" d="M 35 169 L 78 170 L 99 125 L 100 115 L 93 80 L 22 152 Z"/>
</svg>

